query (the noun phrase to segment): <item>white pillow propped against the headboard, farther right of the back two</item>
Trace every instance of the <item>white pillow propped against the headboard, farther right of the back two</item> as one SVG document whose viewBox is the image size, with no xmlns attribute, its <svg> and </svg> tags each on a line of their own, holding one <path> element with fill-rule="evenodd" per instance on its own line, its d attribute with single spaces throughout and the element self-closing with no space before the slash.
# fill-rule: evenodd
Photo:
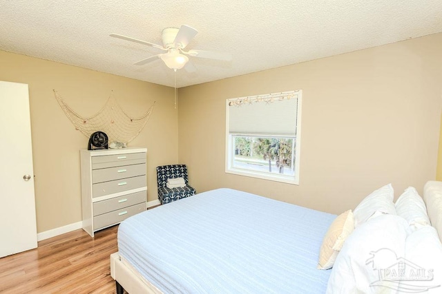
<svg viewBox="0 0 442 294">
<path fill-rule="evenodd" d="M 430 225 L 425 203 L 414 187 L 405 189 L 398 200 L 396 200 L 394 207 L 396 207 L 397 215 L 407 220 L 412 231 Z"/>
</svg>

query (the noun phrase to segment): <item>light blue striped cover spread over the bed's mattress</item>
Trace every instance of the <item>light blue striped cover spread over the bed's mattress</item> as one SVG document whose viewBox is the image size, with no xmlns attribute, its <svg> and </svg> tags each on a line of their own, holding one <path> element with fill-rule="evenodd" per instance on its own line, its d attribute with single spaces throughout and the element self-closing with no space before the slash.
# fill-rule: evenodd
<svg viewBox="0 0 442 294">
<path fill-rule="evenodd" d="M 164 293 L 325 293 L 335 215 L 216 189 L 124 220 L 119 255 Z"/>
</svg>

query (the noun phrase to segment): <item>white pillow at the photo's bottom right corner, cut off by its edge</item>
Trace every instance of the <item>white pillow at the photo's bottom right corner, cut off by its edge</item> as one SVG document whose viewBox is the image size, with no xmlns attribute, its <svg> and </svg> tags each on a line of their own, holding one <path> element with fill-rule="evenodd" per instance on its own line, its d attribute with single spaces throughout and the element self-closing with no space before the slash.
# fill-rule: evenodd
<svg viewBox="0 0 442 294">
<path fill-rule="evenodd" d="M 407 237 L 404 264 L 404 292 L 441 293 L 442 243 L 434 227 L 421 227 Z"/>
</svg>

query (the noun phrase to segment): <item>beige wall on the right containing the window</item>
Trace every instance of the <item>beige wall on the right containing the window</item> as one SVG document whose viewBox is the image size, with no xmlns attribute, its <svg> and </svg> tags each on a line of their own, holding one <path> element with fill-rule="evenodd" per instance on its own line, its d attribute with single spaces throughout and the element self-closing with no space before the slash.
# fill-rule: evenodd
<svg viewBox="0 0 442 294">
<path fill-rule="evenodd" d="M 179 159 L 199 191 L 231 187 L 331 213 L 436 177 L 442 34 L 179 90 Z M 302 90 L 300 185 L 224 173 L 225 100 Z"/>
</svg>

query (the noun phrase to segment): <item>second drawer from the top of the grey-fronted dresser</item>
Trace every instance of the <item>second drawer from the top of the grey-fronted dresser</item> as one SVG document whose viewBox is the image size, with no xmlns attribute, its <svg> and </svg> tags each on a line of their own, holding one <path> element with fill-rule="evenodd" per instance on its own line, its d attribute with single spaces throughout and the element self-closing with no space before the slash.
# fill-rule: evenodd
<svg viewBox="0 0 442 294">
<path fill-rule="evenodd" d="M 146 174 L 146 163 L 140 165 L 123 165 L 121 167 L 109 167 L 107 169 L 94 169 L 92 171 L 92 183 L 108 182 Z"/>
</svg>

